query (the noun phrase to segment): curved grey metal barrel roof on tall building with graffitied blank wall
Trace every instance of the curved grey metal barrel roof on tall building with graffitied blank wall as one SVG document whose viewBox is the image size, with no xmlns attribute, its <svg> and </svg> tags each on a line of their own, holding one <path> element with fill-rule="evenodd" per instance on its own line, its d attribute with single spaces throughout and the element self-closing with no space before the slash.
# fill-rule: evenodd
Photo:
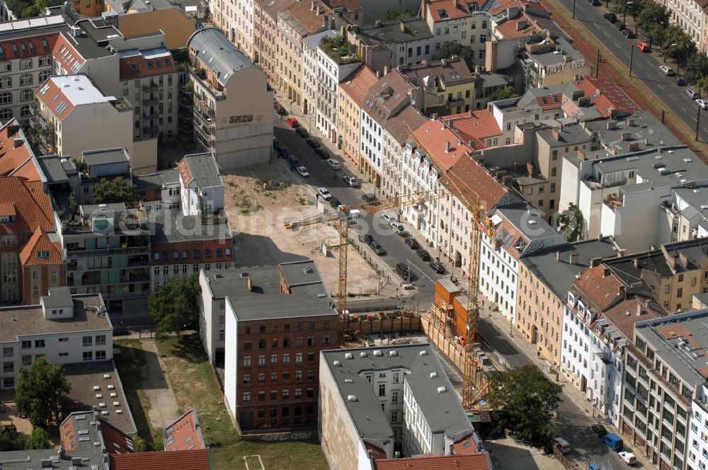
<svg viewBox="0 0 708 470">
<path fill-rule="evenodd" d="M 187 47 L 198 51 L 200 61 L 215 71 L 221 86 L 227 86 L 234 72 L 253 67 L 249 58 L 217 28 L 196 30 L 187 40 Z"/>
</svg>

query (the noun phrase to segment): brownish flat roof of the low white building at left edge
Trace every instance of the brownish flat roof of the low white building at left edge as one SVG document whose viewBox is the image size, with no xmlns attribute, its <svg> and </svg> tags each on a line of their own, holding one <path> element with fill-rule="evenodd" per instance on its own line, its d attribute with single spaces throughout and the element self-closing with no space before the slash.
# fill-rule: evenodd
<svg viewBox="0 0 708 470">
<path fill-rule="evenodd" d="M 23 305 L 0 308 L 0 343 L 18 341 L 21 336 L 79 331 L 112 330 L 108 315 L 98 315 L 85 307 L 103 306 L 100 294 L 74 295 L 74 318 L 47 320 L 42 306 Z"/>
</svg>

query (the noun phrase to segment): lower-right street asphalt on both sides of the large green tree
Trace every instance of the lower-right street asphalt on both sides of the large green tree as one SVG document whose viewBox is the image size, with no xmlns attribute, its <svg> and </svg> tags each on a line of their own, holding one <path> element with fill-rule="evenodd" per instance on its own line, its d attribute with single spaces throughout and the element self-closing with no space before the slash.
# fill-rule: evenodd
<svg viewBox="0 0 708 470">
<path fill-rule="evenodd" d="M 500 331 L 485 316 L 480 318 L 479 334 L 483 338 L 482 349 L 496 352 L 496 357 L 501 356 L 509 367 L 517 369 L 527 364 L 537 365 L 527 350 L 522 350 L 513 343 L 508 331 Z M 532 351 L 532 348 L 529 350 Z M 605 461 L 609 461 L 614 470 L 627 468 L 627 464 L 619 458 L 617 452 L 604 445 L 602 440 L 590 430 L 590 426 L 598 422 L 597 418 L 588 416 L 588 411 L 591 412 L 590 403 L 573 401 L 573 398 L 566 393 L 566 387 L 573 387 L 573 384 L 565 384 L 557 414 L 558 435 L 571 445 L 568 457 L 580 464 L 578 467 L 580 470 L 586 470 L 588 464 Z M 611 424 L 605 424 L 605 428 L 610 432 L 614 430 Z M 641 464 L 637 462 L 633 468 L 639 467 Z"/>
</svg>

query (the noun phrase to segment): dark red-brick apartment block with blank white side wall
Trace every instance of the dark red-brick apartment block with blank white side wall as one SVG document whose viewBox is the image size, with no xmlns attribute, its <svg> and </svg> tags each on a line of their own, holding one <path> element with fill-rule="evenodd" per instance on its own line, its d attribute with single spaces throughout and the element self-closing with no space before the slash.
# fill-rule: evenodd
<svg viewBox="0 0 708 470">
<path fill-rule="evenodd" d="M 318 415 L 319 352 L 338 315 L 312 260 L 222 271 L 224 401 L 240 429 L 292 428 Z M 292 302 L 289 302 L 292 299 Z"/>
</svg>

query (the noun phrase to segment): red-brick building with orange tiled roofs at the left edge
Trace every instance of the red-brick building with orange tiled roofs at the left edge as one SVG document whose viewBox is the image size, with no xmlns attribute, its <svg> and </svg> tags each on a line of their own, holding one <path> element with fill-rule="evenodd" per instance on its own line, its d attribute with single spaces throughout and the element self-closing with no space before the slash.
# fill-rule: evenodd
<svg viewBox="0 0 708 470">
<path fill-rule="evenodd" d="M 66 285 L 52 200 L 18 120 L 0 127 L 0 142 L 0 303 L 38 304 Z"/>
</svg>

